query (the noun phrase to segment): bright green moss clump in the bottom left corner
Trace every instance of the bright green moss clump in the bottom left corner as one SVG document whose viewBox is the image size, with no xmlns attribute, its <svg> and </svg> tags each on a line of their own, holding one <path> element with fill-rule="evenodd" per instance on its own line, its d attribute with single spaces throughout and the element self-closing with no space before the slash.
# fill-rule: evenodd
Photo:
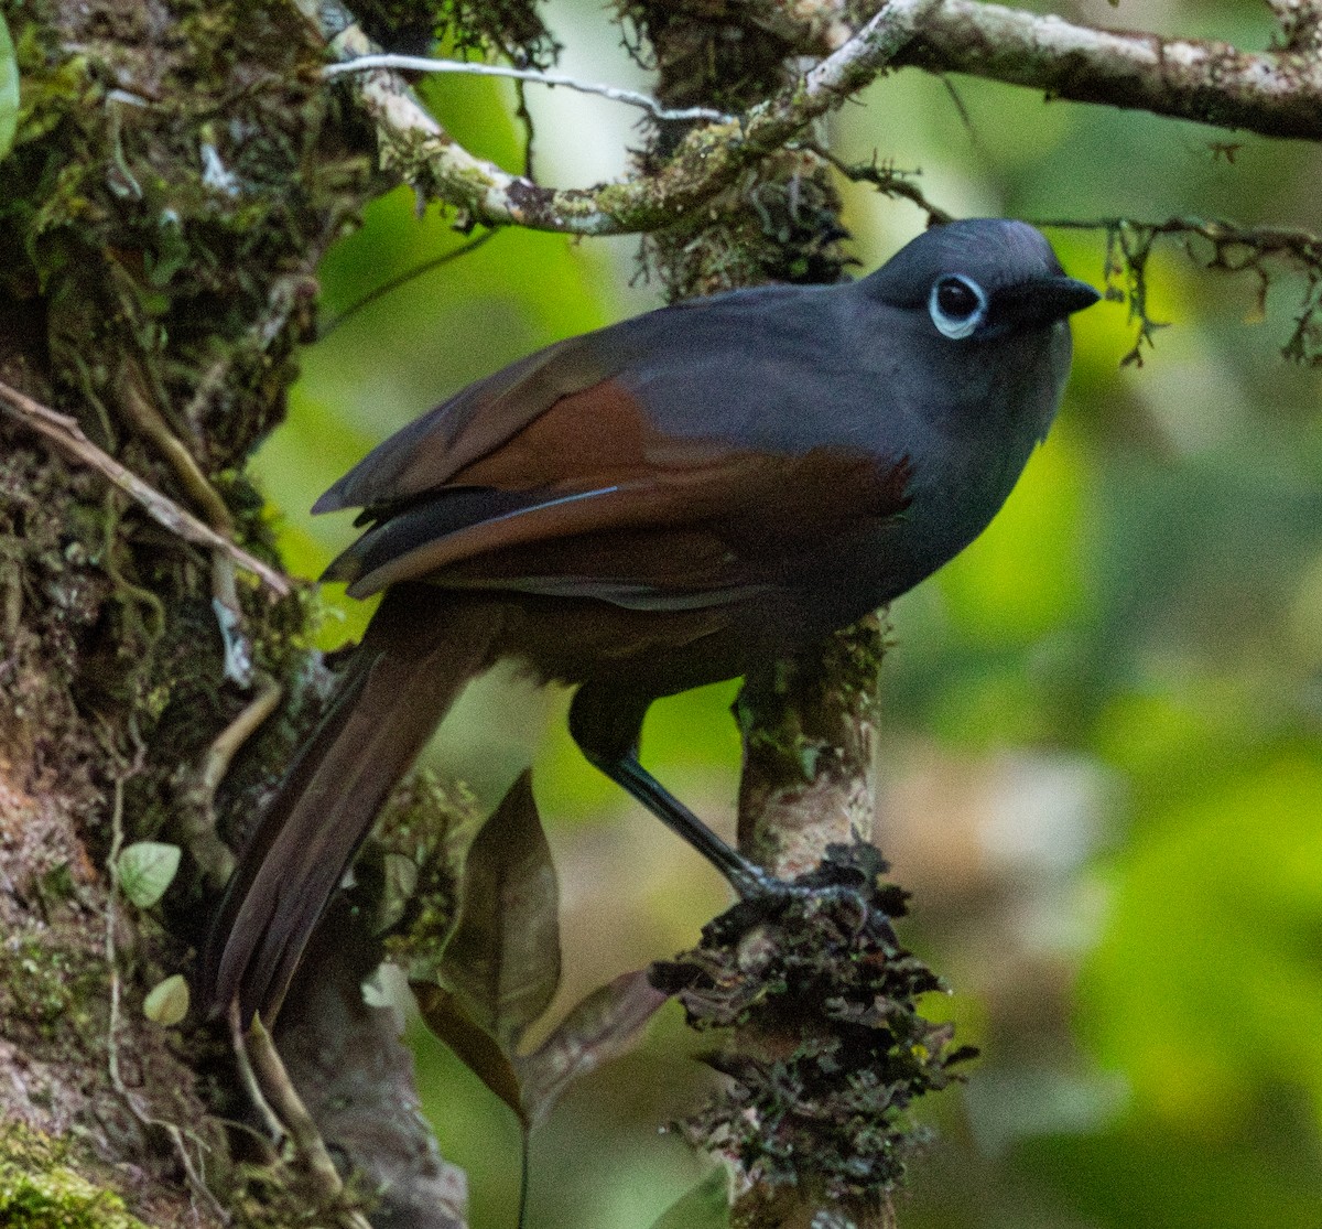
<svg viewBox="0 0 1322 1229">
<path fill-rule="evenodd" d="M 5 1229 L 147 1229 L 124 1201 L 66 1163 L 67 1150 L 17 1124 L 0 1132 L 0 1224 Z"/>
</svg>

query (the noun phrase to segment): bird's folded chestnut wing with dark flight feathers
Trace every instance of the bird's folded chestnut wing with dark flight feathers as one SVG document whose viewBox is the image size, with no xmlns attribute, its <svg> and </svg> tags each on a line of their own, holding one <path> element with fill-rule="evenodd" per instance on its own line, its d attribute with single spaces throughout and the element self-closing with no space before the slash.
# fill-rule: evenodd
<svg viewBox="0 0 1322 1229">
<path fill-rule="evenodd" d="M 719 605 L 779 583 L 824 534 L 898 513 L 907 479 L 902 458 L 668 437 L 604 380 L 387 509 L 325 578 L 354 597 L 426 579 L 644 609 Z"/>
</svg>

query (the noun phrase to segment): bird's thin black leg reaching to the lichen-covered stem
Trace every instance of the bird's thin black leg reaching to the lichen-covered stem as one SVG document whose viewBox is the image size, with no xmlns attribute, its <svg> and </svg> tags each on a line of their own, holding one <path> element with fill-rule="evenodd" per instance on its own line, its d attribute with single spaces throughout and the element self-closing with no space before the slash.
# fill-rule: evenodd
<svg viewBox="0 0 1322 1229">
<path fill-rule="evenodd" d="M 607 695 L 584 684 L 570 706 L 570 733 L 590 763 L 693 845 L 730 881 L 742 900 L 784 890 L 785 884 L 727 845 L 639 763 L 639 734 L 649 702 L 631 702 L 617 693 Z"/>
</svg>

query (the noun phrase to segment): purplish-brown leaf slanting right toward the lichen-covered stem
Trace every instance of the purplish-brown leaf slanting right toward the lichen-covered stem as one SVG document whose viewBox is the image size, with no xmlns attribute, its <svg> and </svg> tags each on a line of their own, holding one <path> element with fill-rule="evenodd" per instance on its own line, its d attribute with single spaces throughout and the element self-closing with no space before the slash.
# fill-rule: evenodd
<svg viewBox="0 0 1322 1229">
<path fill-rule="evenodd" d="M 537 1050 L 516 1060 L 529 1122 L 546 1118 L 575 1080 L 624 1053 L 668 997 L 637 970 L 583 999 Z"/>
</svg>

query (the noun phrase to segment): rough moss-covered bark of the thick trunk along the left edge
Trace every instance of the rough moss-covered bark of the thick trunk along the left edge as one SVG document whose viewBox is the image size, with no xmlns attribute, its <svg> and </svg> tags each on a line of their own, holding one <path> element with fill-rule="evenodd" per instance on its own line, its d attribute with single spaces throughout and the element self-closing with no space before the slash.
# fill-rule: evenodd
<svg viewBox="0 0 1322 1229">
<path fill-rule="evenodd" d="M 21 71 L 0 161 L 0 380 L 270 558 L 241 466 L 283 414 L 317 261 L 383 183 L 370 134 L 279 0 L 0 12 Z M 196 831 L 190 786 L 249 701 L 215 598 L 239 607 L 256 672 L 297 691 L 300 599 L 274 602 L 0 415 L 0 1118 L 58 1142 L 0 1152 L 4 1224 L 128 1225 L 126 1205 L 209 1224 L 202 1175 L 222 1200 L 251 1188 L 201 1093 L 223 1078 L 215 1036 L 141 1013 L 189 967 L 197 868 L 149 914 L 112 902 L 106 873 L 116 829 Z M 279 1203 L 235 1207 L 305 1218 L 304 1199 L 272 1220 Z"/>
</svg>

